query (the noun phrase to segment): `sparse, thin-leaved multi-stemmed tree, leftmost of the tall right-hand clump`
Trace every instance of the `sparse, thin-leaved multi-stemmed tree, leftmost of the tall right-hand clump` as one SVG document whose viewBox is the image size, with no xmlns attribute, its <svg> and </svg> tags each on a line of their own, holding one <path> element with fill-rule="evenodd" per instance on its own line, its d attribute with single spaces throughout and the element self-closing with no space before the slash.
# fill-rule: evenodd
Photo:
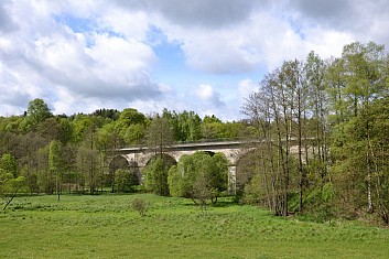
<svg viewBox="0 0 389 259">
<path fill-rule="evenodd" d="M 249 96 L 242 109 L 260 132 L 257 160 L 263 164 L 257 169 L 263 176 L 268 205 L 274 215 L 288 216 L 291 175 L 295 170 L 291 152 L 294 136 L 299 142 L 301 183 L 304 177 L 301 160 L 305 89 L 302 88 L 300 73 L 300 62 L 284 62 L 281 68 L 264 76 L 259 91 Z"/>
</svg>

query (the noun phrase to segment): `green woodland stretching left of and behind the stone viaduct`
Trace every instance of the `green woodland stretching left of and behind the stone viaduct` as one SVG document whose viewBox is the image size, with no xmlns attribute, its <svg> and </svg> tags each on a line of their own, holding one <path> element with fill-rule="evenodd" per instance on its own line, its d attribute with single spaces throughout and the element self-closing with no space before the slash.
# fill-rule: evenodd
<svg viewBox="0 0 389 259">
<path fill-rule="evenodd" d="M 136 164 L 114 159 L 115 150 L 244 138 L 251 128 L 168 109 L 151 116 L 133 108 L 53 115 L 43 99 L 34 99 L 23 115 L 0 117 L 0 192 L 13 193 L 17 179 L 25 181 L 24 192 L 56 193 L 58 198 L 63 192 L 131 192 L 144 176 Z"/>
</svg>

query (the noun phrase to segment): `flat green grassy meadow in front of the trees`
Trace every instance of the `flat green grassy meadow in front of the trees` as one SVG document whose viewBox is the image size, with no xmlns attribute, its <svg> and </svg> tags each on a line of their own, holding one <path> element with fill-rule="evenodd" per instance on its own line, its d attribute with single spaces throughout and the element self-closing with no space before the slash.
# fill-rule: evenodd
<svg viewBox="0 0 389 259">
<path fill-rule="evenodd" d="M 152 203 L 147 216 L 131 199 Z M 389 230 L 316 224 L 154 195 L 19 197 L 0 213 L 0 258 L 388 258 Z"/>
</svg>

